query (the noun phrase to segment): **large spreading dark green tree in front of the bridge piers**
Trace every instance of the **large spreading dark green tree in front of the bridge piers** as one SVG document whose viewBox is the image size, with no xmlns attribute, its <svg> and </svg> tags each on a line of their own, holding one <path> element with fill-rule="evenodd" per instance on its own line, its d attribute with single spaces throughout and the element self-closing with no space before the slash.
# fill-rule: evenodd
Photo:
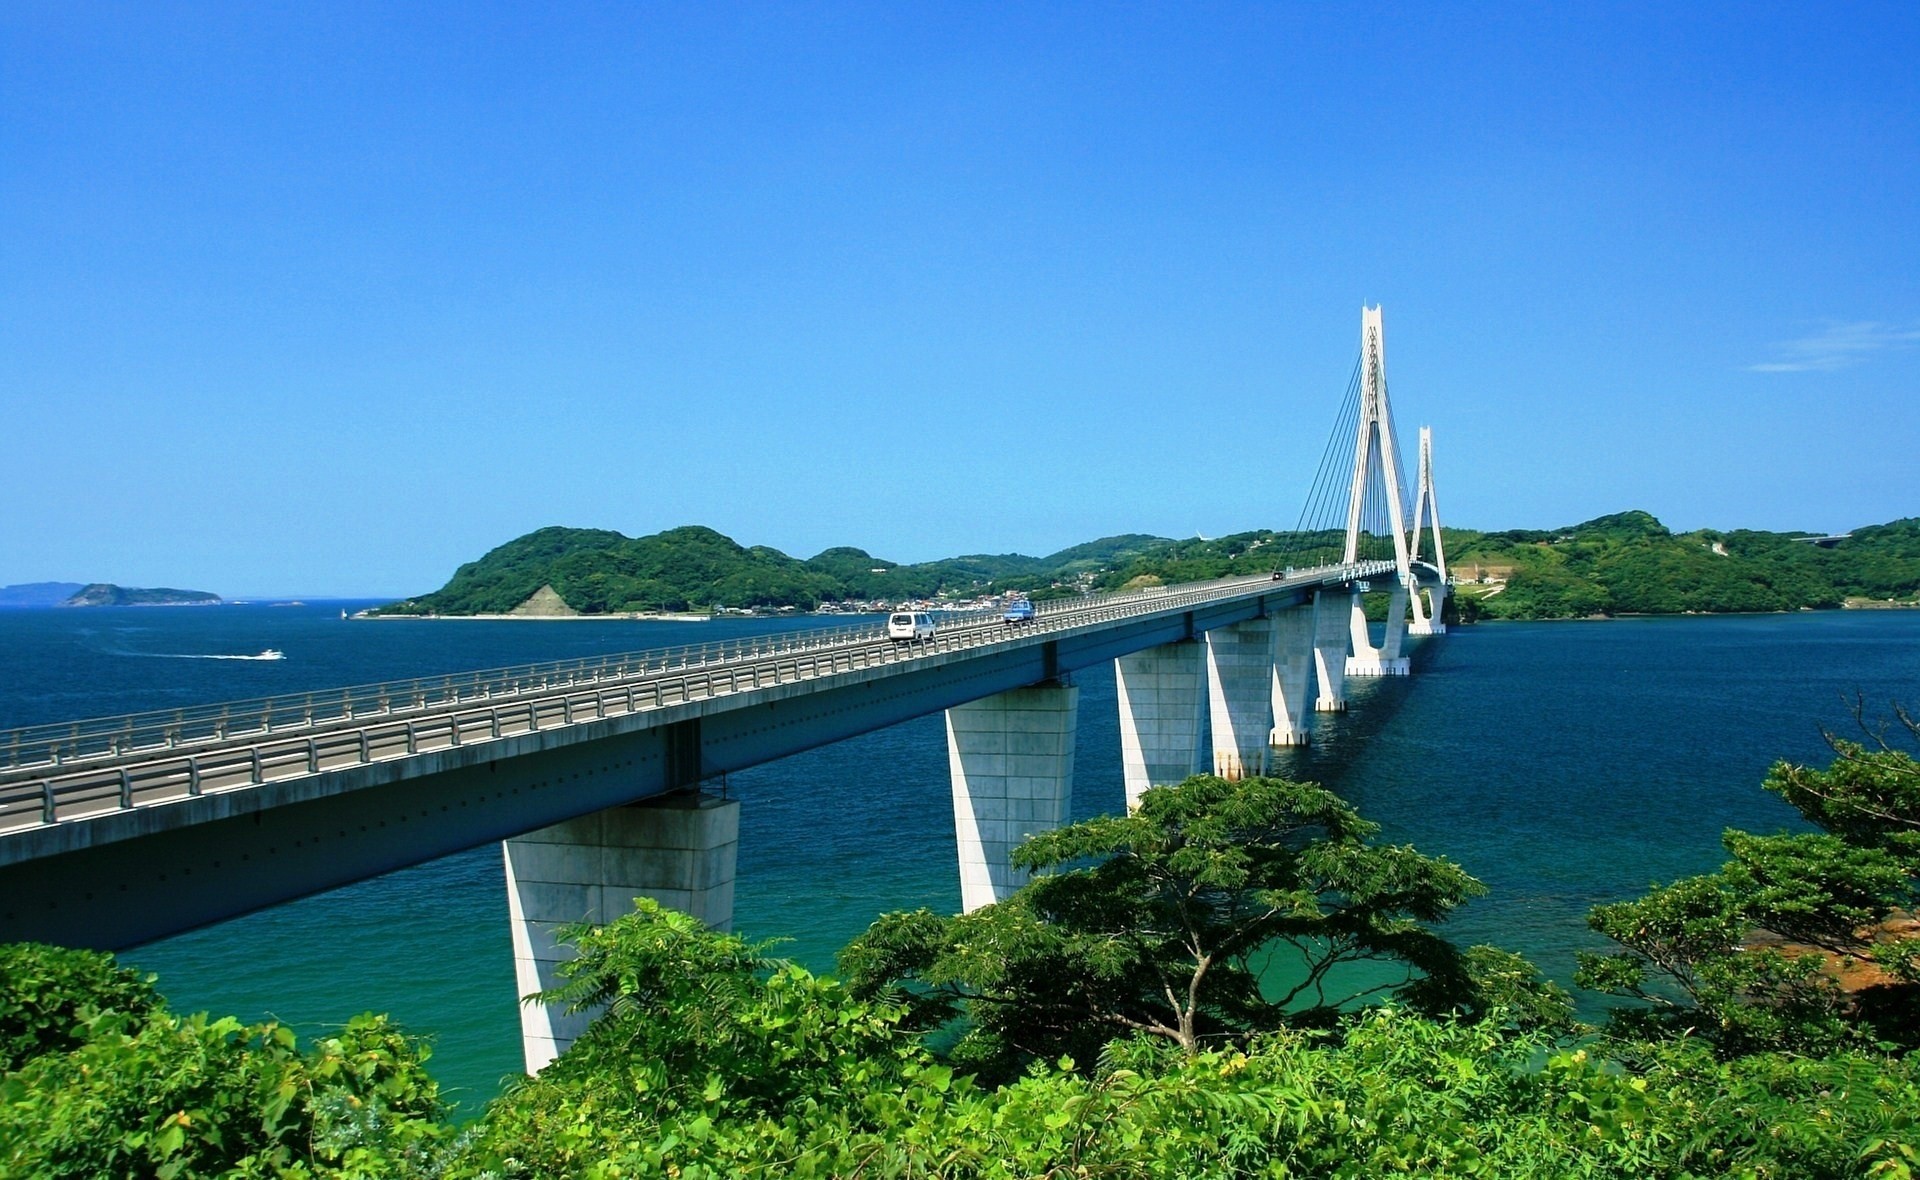
<svg viewBox="0 0 1920 1180">
<path fill-rule="evenodd" d="M 1313 783 L 1196 775 L 1131 815 L 1033 837 L 1014 863 L 1039 875 L 1006 902 L 881 917 L 841 971 L 856 994 L 902 996 L 922 1028 L 964 1015 L 954 1057 L 1002 1074 L 1091 1063 L 1129 1032 L 1192 1053 L 1380 992 L 1478 1009 L 1498 988 L 1526 1019 L 1565 1015 L 1523 959 L 1430 929 L 1478 881 L 1377 833 Z"/>
</svg>

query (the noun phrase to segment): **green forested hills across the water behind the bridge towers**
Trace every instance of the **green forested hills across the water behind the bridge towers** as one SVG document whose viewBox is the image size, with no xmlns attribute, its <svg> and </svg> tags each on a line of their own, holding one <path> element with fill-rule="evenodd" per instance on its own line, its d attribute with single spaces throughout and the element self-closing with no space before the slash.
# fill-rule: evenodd
<svg viewBox="0 0 1920 1180">
<path fill-rule="evenodd" d="M 1083 593 L 1261 574 L 1329 560 L 1336 533 L 1256 530 L 1175 541 L 1102 537 L 1048 556 L 970 555 L 899 564 L 835 547 L 795 558 L 710 528 L 647 537 L 543 528 L 463 564 L 434 593 L 372 616 L 659 616 L 887 610 L 1023 593 Z M 1851 533 L 1695 530 L 1647 512 L 1559 530 L 1444 530 L 1461 618 L 1592 618 L 1920 604 L 1920 518 Z"/>
</svg>

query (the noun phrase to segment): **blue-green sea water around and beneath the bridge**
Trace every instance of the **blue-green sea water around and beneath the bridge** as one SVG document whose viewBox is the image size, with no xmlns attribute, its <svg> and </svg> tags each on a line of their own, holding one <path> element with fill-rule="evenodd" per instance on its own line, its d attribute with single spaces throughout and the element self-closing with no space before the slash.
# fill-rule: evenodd
<svg viewBox="0 0 1920 1180">
<path fill-rule="evenodd" d="M 806 620 L 342 622 L 340 608 L 0 612 L 0 727 L 722 639 Z M 286 652 L 284 660 L 205 660 Z M 1446 854 L 1490 894 L 1452 932 L 1549 975 L 1597 946 L 1586 909 L 1711 869 L 1720 831 L 1795 815 L 1759 789 L 1822 760 L 1847 700 L 1920 702 L 1920 612 L 1484 624 L 1415 650 L 1417 675 L 1354 681 L 1354 712 L 1281 773 L 1315 777 Z M 1077 815 L 1121 806 L 1110 670 L 1083 673 Z M 735 925 L 831 967 L 885 909 L 956 909 L 941 720 L 737 773 Z M 478 1105 L 518 1071 L 497 848 L 478 848 L 129 952 L 180 1009 L 301 1032 L 365 1009 L 432 1036 L 434 1074 Z"/>
</svg>

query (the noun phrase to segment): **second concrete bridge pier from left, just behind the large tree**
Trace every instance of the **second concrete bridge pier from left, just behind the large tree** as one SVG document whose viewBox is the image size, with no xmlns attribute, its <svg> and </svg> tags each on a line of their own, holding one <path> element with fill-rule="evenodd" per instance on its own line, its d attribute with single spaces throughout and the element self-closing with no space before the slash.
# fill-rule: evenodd
<svg viewBox="0 0 1920 1180">
<path fill-rule="evenodd" d="M 1010 689 L 947 710 L 947 766 L 960 846 L 960 908 L 1006 900 L 1027 875 L 1008 856 L 1068 821 L 1079 689 Z"/>
</svg>

